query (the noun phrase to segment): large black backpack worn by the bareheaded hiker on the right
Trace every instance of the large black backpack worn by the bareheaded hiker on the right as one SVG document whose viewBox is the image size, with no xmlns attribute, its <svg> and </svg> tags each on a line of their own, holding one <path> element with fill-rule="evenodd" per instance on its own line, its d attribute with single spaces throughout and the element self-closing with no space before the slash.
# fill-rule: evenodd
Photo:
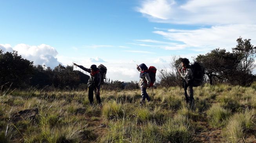
<svg viewBox="0 0 256 143">
<path fill-rule="evenodd" d="M 204 66 L 198 62 L 195 62 L 194 64 L 191 64 L 191 70 L 193 73 L 192 85 L 194 87 L 202 85 L 205 74 Z"/>
</svg>

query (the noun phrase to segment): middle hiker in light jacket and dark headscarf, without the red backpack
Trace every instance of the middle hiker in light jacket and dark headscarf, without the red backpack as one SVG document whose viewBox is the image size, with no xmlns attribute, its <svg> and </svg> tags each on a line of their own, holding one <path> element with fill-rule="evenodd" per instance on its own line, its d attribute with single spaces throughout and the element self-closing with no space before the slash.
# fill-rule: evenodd
<svg viewBox="0 0 256 143">
<path fill-rule="evenodd" d="M 142 105 L 145 102 L 145 98 L 147 98 L 147 101 L 150 101 L 149 95 L 147 94 L 147 87 L 150 85 L 150 77 L 148 73 L 148 68 L 145 64 L 137 65 L 137 70 L 140 71 L 140 90 L 142 98 L 140 100 L 140 105 Z"/>
</svg>

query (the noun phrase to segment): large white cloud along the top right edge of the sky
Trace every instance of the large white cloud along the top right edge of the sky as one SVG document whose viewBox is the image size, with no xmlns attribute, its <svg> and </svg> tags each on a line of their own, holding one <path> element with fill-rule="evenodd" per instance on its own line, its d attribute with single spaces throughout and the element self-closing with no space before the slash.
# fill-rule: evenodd
<svg viewBox="0 0 256 143">
<path fill-rule="evenodd" d="M 255 24 L 255 5 L 255 0 L 144 0 L 137 11 L 163 23 Z"/>
</svg>

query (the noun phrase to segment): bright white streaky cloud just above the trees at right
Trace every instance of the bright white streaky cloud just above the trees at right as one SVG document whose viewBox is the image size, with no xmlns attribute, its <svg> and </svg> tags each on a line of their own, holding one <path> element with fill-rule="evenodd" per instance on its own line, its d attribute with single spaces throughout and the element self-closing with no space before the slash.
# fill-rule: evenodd
<svg viewBox="0 0 256 143">
<path fill-rule="evenodd" d="M 196 30 L 168 30 L 154 31 L 165 38 L 182 42 L 176 46 L 165 47 L 167 50 L 182 49 L 191 47 L 194 51 L 209 51 L 213 48 L 231 48 L 236 46 L 236 39 L 240 36 L 244 39 L 252 39 L 251 43 L 256 43 L 256 25 L 223 25 L 212 26 Z"/>
</svg>

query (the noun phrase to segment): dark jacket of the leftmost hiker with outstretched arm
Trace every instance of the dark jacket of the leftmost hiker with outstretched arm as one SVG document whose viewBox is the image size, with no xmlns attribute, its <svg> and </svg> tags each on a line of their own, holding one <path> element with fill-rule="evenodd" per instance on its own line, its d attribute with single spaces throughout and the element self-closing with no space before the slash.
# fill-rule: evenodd
<svg viewBox="0 0 256 143">
<path fill-rule="evenodd" d="M 88 73 L 91 73 L 91 69 L 89 69 L 89 68 L 85 68 L 84 66 L 78 66 L 78 67 L 84 71 L 87 71 Z M 100 90 L 100 80 L 101 80 L 100 72 L 98 72 L 94 76 L 92 76 L 90 74 L 90 79 L 89 79 L 87 85 L 88 85 L 88 87 L 91 87 L 91 88 L 96 87 L 98 90 Z"/>
</svg>

